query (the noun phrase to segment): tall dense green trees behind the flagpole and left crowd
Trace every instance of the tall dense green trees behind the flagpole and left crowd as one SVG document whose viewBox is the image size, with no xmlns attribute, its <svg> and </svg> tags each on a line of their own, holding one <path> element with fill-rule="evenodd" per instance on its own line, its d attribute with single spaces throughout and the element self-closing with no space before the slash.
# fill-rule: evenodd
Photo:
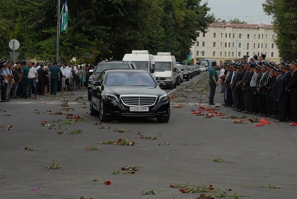
<svg viewBox="0 0 297 199">
<path fill-rule="evenodd" d="M 9 24 L 6 37 L 0 31 L 0 45 L 7 45 L 10 35 L 20 41 L 24 57 L 55 59 L 56 0 L 0 2 L 13 10 L 5 13 L 4 22 L 0 19 L 1 29 Z M 133 49 L 169 51 L 179 61 L 214 18 L 202 0 L 71 0 L 68 10 L 68 33 L 60 34 L 62 61 L 121 59 Z M 84 54 L 93 58 L 81 59 Z"/>
</svg>

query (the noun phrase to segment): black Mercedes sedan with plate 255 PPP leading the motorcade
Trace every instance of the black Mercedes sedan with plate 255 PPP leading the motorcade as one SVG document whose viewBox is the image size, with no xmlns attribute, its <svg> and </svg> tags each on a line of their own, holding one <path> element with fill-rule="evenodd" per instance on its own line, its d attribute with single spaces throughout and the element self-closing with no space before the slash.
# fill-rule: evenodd
<svg viewBox="0 0 297 199">
<path fill-rule="evenodd" d="M 159 122 L 170 118 L 169 97 L 146 70 L 113 69 L 101 72 L 91 88 L 90 115 L 100 121 L 118 116 L 156 117 Z"/>
</svg>

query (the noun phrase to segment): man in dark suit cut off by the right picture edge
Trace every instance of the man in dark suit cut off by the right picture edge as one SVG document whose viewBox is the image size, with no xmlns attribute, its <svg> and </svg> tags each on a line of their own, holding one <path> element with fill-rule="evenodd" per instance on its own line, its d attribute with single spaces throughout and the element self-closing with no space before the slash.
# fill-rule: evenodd
<svg viewBox="0 0 297 199">
<path fill-rule="evenodd" d="M 285 90 L 289 94 L 291 110 L 291 121 L 297 122 L 297 59 L 290 63 L 290 79 L 286 84 Z"/>
</svg>

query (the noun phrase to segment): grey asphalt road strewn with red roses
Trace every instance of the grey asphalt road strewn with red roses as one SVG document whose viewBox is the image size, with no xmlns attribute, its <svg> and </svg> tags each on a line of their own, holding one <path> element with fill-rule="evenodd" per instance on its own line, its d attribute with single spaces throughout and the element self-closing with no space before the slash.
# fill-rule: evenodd
<svg viewBox="0 0 297 199">
<path fill-rule="evenodd" d="M 272 124 L 258 127 L 247 119 L 235 124 L 221 116 L 204 118 L 207 111 L 202 111 L 204 116 L 189 114 L 198 109 L 198 103 L 205 106 L 207 102 L 207 75 L 201 73 L 176 90 L 166 90 L 172 91 L 168 123 L 158 123 L 154 118 L 124 118 L 92 125 L 98 118 L 88 114 L 86 89 L 59 93 L 56 98 L 1 103 L 0 126 L 12 127 L 0 130 L 0 198 L 199 197 L 200 193 L 169 188 L 169 184 L 186 183 L 231 188 L 226 191 L 228 195 L 236 192 L 256 199 L 297 198 L 297 128 L 273 120 Z M 222 96 L 218 91 L 219 88 L 215 102 L 220 103 Z M 63 110 L 61 103 L 65 100 L 74 111 Z M 230 108 L 215 108 L 225 117 L 243 115 Z M 50 115 L 57 111 L 62 114 Z M 87 120 L 63 125 L 67 113 Z M 48 129 L 50 126 L 41 125 L 42 120 L 60 125 L 52 128 L 62 129 Z M 130 131 L 114 131 L 118 128 Z M 68 134 L 75 129 L 82 133 Z M 57 133 L 61 131 L 63 134 Z M 139 136 L 137 132 L 156 139 L 134 138 Z M 118 138 L 135 144 L 94 144 Z M 169 145 L 158 145 L 164 142 Z M 88 146 L 101 150 L 86 151 Z M 213 162 L 216 157 L 223 162 Z M 46 171 L 53 160 L 61 168 Z M 120 168 L 125 165 L 140 168 L 134 174 L 122 174 Z M 112 174 L 112 170 L 120 173 Z M 93 182 L 93 178 L 110 180 L 111 185 Z M 261 187 L 267 184 L 281 188 Z M 141 194 L 151 189 L 155 195 Z"/>
</svg>

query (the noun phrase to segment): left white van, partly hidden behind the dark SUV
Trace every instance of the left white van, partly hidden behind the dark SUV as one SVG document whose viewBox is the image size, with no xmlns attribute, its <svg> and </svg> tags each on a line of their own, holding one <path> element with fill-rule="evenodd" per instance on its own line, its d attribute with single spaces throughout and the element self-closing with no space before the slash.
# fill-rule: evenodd
<svg viewBox="0 0 297 199">
<path fill-rule="evenodd" d="M 148 50 L 132 50 L 131 54 L 125 54 L 123 61 L 133 61 L 136 69 L 144 69 L 151 74 L 154 73 L 154 59 L 152 54 L 148 54 Z"/>
</svg>

